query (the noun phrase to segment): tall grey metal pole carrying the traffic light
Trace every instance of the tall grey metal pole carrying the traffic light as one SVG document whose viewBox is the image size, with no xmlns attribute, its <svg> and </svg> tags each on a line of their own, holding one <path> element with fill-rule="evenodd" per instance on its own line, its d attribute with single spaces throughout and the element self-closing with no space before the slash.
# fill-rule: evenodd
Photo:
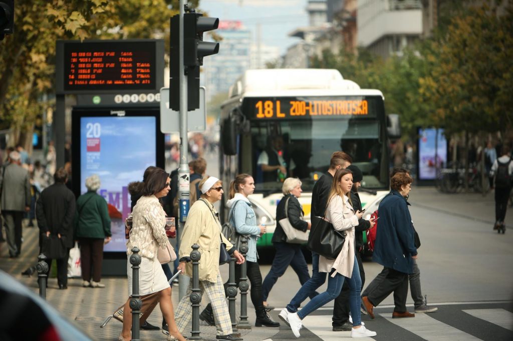
<svg viewBox="0 0 513 341">
<path fill-rule="evenodd" d="M 176 227 L 185 223 L 189 212 L 189 162 L 187 157 L 189 154 L 189 141 L 187 138 L 187 77 L 184 68 L 184 13 L 187 6 L 187 0 L 180 0 L 180 167 L 178 169 L 178 191 L 179 191 L 179 215 L 180 222 L 176 223 Z M 187 293 L 189 286 L 189 278 L 179 275 L 178 293 L 180 300 Z"/>
</svg>

